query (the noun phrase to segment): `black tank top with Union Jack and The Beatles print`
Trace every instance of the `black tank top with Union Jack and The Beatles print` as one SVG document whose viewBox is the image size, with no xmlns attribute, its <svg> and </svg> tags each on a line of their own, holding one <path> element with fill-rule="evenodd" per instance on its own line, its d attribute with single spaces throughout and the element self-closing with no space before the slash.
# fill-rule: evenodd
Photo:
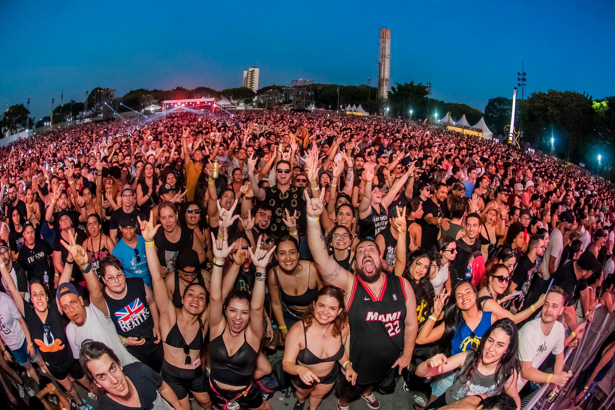
<svg viewBox="0 0 615 410">
<path fill-rule="evenodd" d="M 125 277 L 125 281 L 126 294 L 122 299 L 113 299 L 103 290 L 103 298 L 117 334 L 122 337 L 144 337 L 146 344 L 153 343 L 154 319 L 149 313 L 143 279 Z"/>
</svg>

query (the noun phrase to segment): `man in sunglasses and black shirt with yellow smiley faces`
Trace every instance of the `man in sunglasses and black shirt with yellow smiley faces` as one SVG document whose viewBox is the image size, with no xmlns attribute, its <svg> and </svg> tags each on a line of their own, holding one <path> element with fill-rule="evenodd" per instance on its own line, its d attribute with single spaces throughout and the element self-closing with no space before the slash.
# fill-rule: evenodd
<svg viewBox="0 0 615 410">
<path fill-rule="evenodd" d="M 271 219 L 269 230 L 274 235 L 282 235 L 287 233 L 287 227 L 282 221 L 285 210 L 288 210 L 289 215 L 301 216 L 305 202 L 303 199 L 303 188 L 291 186 L 290 162 L 280 160 L 276 164 L 276 184 L 274 186 L 263 187 L 258 186 L 254 170 L 256 167 L 256 157 L 248 160 L 248 178 L 254 192 L 254 197 L 268 204 L 273 213 L 276 215 Z M 315 188 L 312 188 L 315 190 Z M 303 218 L 299 219 L 300 221 Z"/>
</svg>

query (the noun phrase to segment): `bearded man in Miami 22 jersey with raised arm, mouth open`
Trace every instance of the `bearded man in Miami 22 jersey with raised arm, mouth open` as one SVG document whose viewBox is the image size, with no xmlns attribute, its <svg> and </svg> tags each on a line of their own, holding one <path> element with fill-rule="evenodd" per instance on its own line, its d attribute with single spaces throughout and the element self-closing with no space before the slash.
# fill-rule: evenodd
<svg viewBox="0 0 615 410">
<path fill-rule="evenodd" d="M 323 282 L 344 290 L 352 329 L 349 357 L 358 374 L 355 385 L 341 379 L 337 408 L 349 410 L 350 401 L 360 395 L 371 409 L 377 409 L 380 403 L 373 388 L 393 390 L 396 373 L 410 365 L 418 331 L 415 294 L 405 278 L 382 271 L 375 242 L 365 240 L 357 245 L 355 275 L 329 256 L 319 223 L 325 209 L 323 197 L 324 192 L 320 198 L 309 199 L 306 207 L 308 243 Z"/>
</svg>

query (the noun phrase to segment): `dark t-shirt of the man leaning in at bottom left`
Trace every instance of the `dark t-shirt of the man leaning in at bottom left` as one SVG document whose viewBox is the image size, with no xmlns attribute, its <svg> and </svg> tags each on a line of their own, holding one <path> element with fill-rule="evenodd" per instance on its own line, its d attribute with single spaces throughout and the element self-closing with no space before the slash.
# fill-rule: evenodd
<svg viewBox="0 0 615 410">
<path fill-rule="evenodd" d="M 158 389 L 162 386 L 162 376 L 140 361 L 124 365 L 124 374 L 135 385 L 135 390 L 137 390 L 139 401 L 141 402 L 141 408 L 124 406 L 124 404 L 117 403 L 108 395 L 100 396 L 99 408 L 102 410 L 153 409 L 154 401 L 158 397 Z M 159 400 L 162 400 L 162 398 Z"/>
</svg>

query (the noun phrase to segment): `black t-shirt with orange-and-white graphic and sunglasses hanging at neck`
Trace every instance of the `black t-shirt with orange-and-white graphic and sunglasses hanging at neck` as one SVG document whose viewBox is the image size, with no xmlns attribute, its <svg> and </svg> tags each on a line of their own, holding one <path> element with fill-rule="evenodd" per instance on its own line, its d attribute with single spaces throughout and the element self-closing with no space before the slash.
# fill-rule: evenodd
<svg viewBox="0 0 615 410">
<path fill-rule="evenodd" d="M 30 330 L 32 342 L 38 347 L 46 363 L 62 369 L 75 361 L 73 351 L 66 339 L 66 325 L 62 313 L 58 310 L 55 298 L 49 301 L 45 323 L 34 312 L 34 308 L 23 302 L 23 317 Z M 47 331 L 45 331 L 47 329 Z"/>
</svg>

